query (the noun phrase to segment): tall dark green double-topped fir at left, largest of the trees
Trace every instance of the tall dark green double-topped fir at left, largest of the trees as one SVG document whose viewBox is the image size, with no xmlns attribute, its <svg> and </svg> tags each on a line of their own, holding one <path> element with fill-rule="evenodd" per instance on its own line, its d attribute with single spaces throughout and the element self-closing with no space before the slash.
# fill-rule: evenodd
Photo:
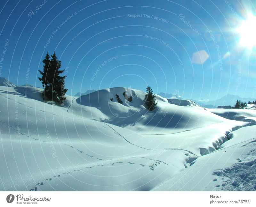
<svg viewBox="0 0 256 207">
<path fill-rule="evenodd" d="M 49 57 L 50 56 L 47 52 L 43 60 L 44 70 L 39 71 L 42 75 L 42 78 L 39 78 L 39 80 L 44 86 L 44 100 L 52 100 L 60 104 L 63 103 L 64 100 L 66 100 L 65 94 L 68 89 L 65 89 L 65 78 L 67 76 L 60 76 L 60 74 L 62 74 L 64 70 L 60 70 L 61 61 L 58 60 L 55 52 L 51 56 L 52 58 L 50 61 Z"/>
</svg>

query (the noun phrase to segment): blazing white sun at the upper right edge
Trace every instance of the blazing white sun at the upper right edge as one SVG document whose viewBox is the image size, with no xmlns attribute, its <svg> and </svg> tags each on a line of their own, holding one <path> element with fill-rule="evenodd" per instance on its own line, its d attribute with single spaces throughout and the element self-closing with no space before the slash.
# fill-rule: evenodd
<svg viewBox="0 0 256 207">
<path fill-rule="evenodd" d="M 252 49 L 256 46 L 256 17 L 250 15 L 247 20 L 242 21 L 241 26 L 237 28 L 240 34 L 240 44 Z"/>
</svg>

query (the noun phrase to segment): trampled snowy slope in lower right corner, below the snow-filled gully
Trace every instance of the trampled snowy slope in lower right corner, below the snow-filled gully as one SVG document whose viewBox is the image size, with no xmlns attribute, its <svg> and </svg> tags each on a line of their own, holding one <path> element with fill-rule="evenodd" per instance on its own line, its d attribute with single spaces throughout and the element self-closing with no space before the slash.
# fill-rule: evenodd
<svg viewBox="0 0 256 207">
<path fill-rule="evenodd" d="M 219 150 L 196 159 L 152 190 L 255 191 L 256 126 L 238 129 L 232 137 Z"/>
</svg>

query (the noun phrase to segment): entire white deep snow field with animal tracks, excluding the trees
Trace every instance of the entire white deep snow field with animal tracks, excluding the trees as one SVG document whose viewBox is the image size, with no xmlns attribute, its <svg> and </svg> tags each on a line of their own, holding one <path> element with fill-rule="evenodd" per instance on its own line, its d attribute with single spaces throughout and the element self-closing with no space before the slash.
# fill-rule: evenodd
<svg viewBox="0 0 256 207">
<path fill-rule="evenodd" d="M 60 107 L 41 91 L 0 86 L 1 191 L 256 190 L 256 110 L 156 95 L 149 112 L 123 87 Z"/>
</svg>

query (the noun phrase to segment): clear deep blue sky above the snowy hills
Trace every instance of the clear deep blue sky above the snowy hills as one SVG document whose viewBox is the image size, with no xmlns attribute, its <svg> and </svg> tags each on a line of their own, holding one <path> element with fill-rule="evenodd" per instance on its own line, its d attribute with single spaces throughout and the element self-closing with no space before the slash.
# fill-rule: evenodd
<svg viewBox="0 0 256 207">
<path fill-rule="evenodd" d="M 255 98 L 255 47 L 241 45 L 237 32 L 255 15 L 255 5 L 2 0 L 1 77 L 41 87 L 42 60 L 56 51 L 66 69 L 68 95 L 118 86 L 145 91 L 150 85 L 155 93 L 197 100 L 227 93 Z"/>
</svg>

